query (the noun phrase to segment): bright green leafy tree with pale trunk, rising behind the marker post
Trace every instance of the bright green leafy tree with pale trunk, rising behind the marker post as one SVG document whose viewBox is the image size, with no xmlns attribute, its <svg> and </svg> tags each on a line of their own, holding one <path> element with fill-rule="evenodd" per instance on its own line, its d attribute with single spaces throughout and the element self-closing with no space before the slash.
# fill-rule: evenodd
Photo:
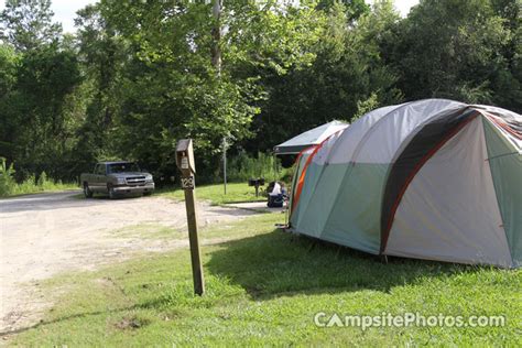
<svg viewBox="0 0 522 348">
<path fill-rule="evenodd" d="M 104 25 L 94 31 L 89 21 L 79 23 L 81 52 L 89 45 L 98 47 L 91 57 L 96 52 L 104 56 L 111 52 L 101 50 L 104 42 L 112 37 L 121 43 L 116 53 L 123 58 L 110 78 L 117 87 L 93 102 L 111 105 L 110 96 L 118 96 L 111 108 L 111 143 L 120 155 L 141 160 L 165 176 L 175 168 L 175 141 L 182 137 L 196 139 L 200 166 L 217 168 L 221 138 L 248 137 L 259 112 L 262 86 L 249 68 L 284 72 L 309 62 L 302 43 L 318 40 L 313 8 L 286 9 L 276 1 L 102 0 L 96 18 Z M 89 66 L 99 74 L 113 65 Z"/>
</svg>

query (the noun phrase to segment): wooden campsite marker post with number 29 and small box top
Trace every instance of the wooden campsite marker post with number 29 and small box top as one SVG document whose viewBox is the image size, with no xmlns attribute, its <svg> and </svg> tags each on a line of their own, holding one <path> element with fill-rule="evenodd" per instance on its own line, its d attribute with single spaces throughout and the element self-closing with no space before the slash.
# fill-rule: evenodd
<svg viewBox="0 0 522 348">
<path fill-rule="evenodd" d="M 194 162 L 194 150 L 192 139 L 182 139 L 176 145 L 176 165 L 182 172 L 182 187 L 185 191 L 185 207 L 187 210 L 188 240 L 191 243 L 192 274 L 194 278 L 194 293 L 205 293 L 205 280 L 203 279 L 202 258 L 199 253 L 199 241 L 197 237 L 197 214 L 194 174 L 196 166 Z"/>
</svg>

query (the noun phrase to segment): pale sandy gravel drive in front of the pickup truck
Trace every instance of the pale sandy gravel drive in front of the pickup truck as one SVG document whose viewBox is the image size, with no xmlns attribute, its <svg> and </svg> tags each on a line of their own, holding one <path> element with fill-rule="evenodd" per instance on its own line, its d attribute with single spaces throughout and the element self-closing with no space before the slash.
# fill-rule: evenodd
<svg viewBox="0 0 522 348">
<path fill-rule="evenodd" d="M 183 203 L 157 197 L 77 199 L 76 195 L 68 192 L 0 200 L 0 333 L 37 323 L 52 304 L 39 290 L 43 279 L 62 271 L 93 270 L 137 252 L 188 244 L 180 238 L 122 238 L 113 232 L 153 224 L 182 233 L 186 231 Z M 198 205 L 202 227 L 248 215 L 252 213 Z"/>
</svg>

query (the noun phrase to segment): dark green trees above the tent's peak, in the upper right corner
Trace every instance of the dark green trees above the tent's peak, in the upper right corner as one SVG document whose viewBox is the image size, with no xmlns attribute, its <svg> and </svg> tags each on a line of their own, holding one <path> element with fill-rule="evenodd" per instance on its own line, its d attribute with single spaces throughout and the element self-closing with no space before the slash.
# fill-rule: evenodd
<svg viewBox="0 0 522 348">
<path fill-rule="evenodd" d="M 513 39 L 519 0 L 496 11 L 488 0 L 422 1 L 384 40 L 389 62 L 400 74 L 398 86 L 410 100 L 426 97 L 498 104 L 519 111 L 520 75 Z M 515 10 L 515 8 L 519 8 Z M 505 11 L 511 19 L 503 18 Z M 516 15 L 516 14 L 515 14 Z M 509 21 L 507 21 L 509 20 Z"/>
</svg>

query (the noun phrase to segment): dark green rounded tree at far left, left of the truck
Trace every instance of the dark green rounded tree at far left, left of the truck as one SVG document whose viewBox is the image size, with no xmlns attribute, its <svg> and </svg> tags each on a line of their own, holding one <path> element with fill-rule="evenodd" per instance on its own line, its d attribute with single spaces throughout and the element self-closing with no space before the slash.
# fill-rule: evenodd
<svg viewBox="0 0 522 348">
<path fill-rule="evenodd" d="M 20 58 L 17 85 L 3 112 L 13 128 L 10 160 L 17 159 L 22 177 L 42 171 L 54 177 L 74 177 L 67 167 L 77 115 L 69 112 L 68 98 L 80 80 L 72 51 L 51 45 Z"/>
</svg>

